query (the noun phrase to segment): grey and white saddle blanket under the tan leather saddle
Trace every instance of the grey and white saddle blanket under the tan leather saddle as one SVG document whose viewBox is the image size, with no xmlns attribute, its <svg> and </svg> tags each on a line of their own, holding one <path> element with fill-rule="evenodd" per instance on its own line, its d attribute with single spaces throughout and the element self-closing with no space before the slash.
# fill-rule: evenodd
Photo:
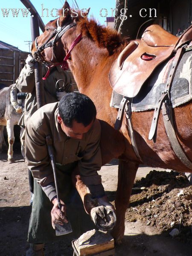
<svg viewBox="0 0 192 256">
<path fill-rule="evenodd" d="M 143 84 L 140 92 L 131 101 L 131 110 L 146 111 L 154 109 L 165 90 L 166 81 L 172 68 L 172 60 L 160 64 L 151 77 Z M 145 71 L 144 71 L 145 72 Z M 185 52 L 178 64 L 171 88 L 172 108 L 192 99 L 192 51 Z M 113 90 L 111 107 L 119 108 L 123 96 Z"/>
</svg>

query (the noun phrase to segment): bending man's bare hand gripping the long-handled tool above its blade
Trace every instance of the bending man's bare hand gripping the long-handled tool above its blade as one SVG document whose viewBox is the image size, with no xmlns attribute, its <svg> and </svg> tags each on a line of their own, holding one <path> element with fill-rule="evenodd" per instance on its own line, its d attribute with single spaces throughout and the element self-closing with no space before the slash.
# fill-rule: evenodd
<svg viewBox="0 0 192 256">
<path fill-rule="evenodd" d="M 52 203 L 54 206 L 51 210 L 51 222 L 52 227 L 55 229 L 55 223 L 59 225 L 63 225 L 63 223 L 68 223 L 67 217 L 66 217 L 66 206 L 63 201 L 61 201 L 61 210 L 58 207 L 58 201 L 57 198 L 52 200 Z"/>
</svg>

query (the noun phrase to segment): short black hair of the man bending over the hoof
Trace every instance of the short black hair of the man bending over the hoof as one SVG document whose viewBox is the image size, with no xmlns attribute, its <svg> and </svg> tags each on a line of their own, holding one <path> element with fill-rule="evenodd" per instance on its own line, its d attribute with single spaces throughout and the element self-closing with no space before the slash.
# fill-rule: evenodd
<svg viewBox="0 0 192 256">
<path fill-rule="evenodd" d="M 92 100 L 82 93 L 67 93 L 58 105 L 58 113 L 67 127 L 72 127 L 73 120 L 84 127 L 96 118 L 96 107 Z"/>
</svg>

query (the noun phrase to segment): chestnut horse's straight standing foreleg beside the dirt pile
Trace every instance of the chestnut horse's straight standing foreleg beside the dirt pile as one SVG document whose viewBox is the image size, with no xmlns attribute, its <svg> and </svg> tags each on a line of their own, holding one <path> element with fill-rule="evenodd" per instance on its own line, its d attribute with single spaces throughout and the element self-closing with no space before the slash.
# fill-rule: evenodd
<svg viewBox="0 0 192 256">
<path fill-rule="evenodd" d="M 120 243 L 124 236 L 125 212 L 129 205 L 129 198 L 138 167 L 138 163 L 119 160 L 118 185 L 115 199 L 116 225 L 112 231 L 116 243 Z"/>
</svg>

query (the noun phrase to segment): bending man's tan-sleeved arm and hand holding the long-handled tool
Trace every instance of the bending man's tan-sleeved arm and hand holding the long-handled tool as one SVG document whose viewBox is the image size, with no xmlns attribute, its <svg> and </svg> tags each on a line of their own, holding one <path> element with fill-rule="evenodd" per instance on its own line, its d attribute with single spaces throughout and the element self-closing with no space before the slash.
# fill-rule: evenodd
<svg viewBox="0 0 192 256">
<path fill-rule="evenodd" d="M 61 224 L 67 223 L 66 207 L 63 201 L 61 201 L 61 209 L 58 207 L 58 201 L 56 198 L 54 176 L 52 173 L 52 166 L 47 150 L 46 136 L 41 132 L 41 126 L 35 129 L 32 124 L 32 120 L 26 124 L 25 135 L 25 155 L 27 166 L 31 170 L 34 178 L 38 180 L 42 189 L 49 197 L 53 207 L 51 210 L 52 227 L 55 229 L 55 222 Z"/>
</svg>

